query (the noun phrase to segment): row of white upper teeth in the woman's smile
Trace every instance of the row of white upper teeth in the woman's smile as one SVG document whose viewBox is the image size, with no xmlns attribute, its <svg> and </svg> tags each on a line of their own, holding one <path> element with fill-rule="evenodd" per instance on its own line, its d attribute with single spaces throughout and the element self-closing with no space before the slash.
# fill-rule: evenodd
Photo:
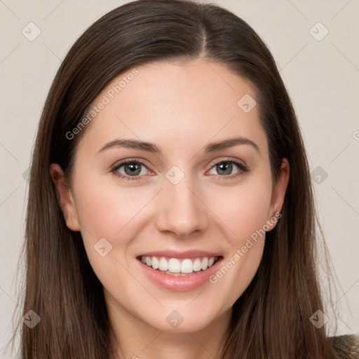
<svg viewBox="0 0 359 359">
<path fill-rule="evenodd" d="M 170 273 L 192 273 L 193 271 L 205 271 L 215 263 L 217 257 L 202 257 L 196 259 L 177 259 L 165 257 L 141 257 L 141 262 L 160 271 L 169 271 Z M 182 262 L 181 262 L 182 261 Z"/>
</svg>

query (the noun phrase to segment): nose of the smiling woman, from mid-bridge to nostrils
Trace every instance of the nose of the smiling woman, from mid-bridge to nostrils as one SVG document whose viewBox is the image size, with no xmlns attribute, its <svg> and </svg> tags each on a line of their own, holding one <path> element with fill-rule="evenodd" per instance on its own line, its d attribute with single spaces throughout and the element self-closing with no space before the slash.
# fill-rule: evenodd
<svg viewBox="0 0 359 359">
<path fill-rule="evenodd" d="M 166 179 L 157 205 L 156 226 L 160 231 L 187 238 L 191 233 L 203 231 L 208 226 L 210 211 L 201 201 L 201 194 L 188 176 L 178 184 L 172 184 Z"/>
</svg>

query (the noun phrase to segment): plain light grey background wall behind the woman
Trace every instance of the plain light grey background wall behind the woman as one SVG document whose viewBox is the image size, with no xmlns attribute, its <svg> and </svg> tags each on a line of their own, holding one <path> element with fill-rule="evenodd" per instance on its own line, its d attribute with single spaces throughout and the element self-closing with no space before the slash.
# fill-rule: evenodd
<svg viewBox="0 0 359 359">
<path fill-rule="evenodd" d="M 50 83 L 81 33 L 126 2 L 0 0 L 0 350 L 11 334 L 16 306 L 13 277 L 24 233 L 24 172 Z M 269 46 L 294 102 L 311 170 L 320 166 L 327 172 L 320 184 L 313 176 L 313 187 L 341 285 L 334 297 L 342 318 L 338 333 L 358 333 L 359 1 L 213 2 L 246 20 Z M 41 29 L 34 41 L 22 34 L 29 22 Z M 329 31 L 321 41 L 325 29 L 317 22 Z"/>
</svg>

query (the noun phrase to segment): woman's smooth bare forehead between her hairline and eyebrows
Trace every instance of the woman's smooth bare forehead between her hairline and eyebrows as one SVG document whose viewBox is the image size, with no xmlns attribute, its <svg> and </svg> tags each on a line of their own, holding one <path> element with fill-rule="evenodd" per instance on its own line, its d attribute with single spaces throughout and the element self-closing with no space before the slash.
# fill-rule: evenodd
<svg viewBox="0 0 359 359">
<path fill-rule="evenodd" d="M 96 115 L 79 147 L 98 151 L 121 137 L 183 151 L 238 135 L 255 140 L 265 153 L 257 105 L 242 107 L 241 99 L 252 107 L 255 97 L 248 81 L 201 58 L 142 65 L 117 76 L 93 101 Z"/>
</svg>

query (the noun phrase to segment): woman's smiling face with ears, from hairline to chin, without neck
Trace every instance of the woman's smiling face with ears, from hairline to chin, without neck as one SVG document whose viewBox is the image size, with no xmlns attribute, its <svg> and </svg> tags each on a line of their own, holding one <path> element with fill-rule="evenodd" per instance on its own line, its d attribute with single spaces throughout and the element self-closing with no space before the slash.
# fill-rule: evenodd
<svg viewBox="0 0 359 359">
<path fill-rule="evenodd" d="M 271 182 L 253 88 L 201 59 L 157 62 L 91 108 L 71 188 L 57 188 L 109 311 L 166 331 L 210 325 L 255 276 L 287 187 L 286 162 Z"/>
</svg>

